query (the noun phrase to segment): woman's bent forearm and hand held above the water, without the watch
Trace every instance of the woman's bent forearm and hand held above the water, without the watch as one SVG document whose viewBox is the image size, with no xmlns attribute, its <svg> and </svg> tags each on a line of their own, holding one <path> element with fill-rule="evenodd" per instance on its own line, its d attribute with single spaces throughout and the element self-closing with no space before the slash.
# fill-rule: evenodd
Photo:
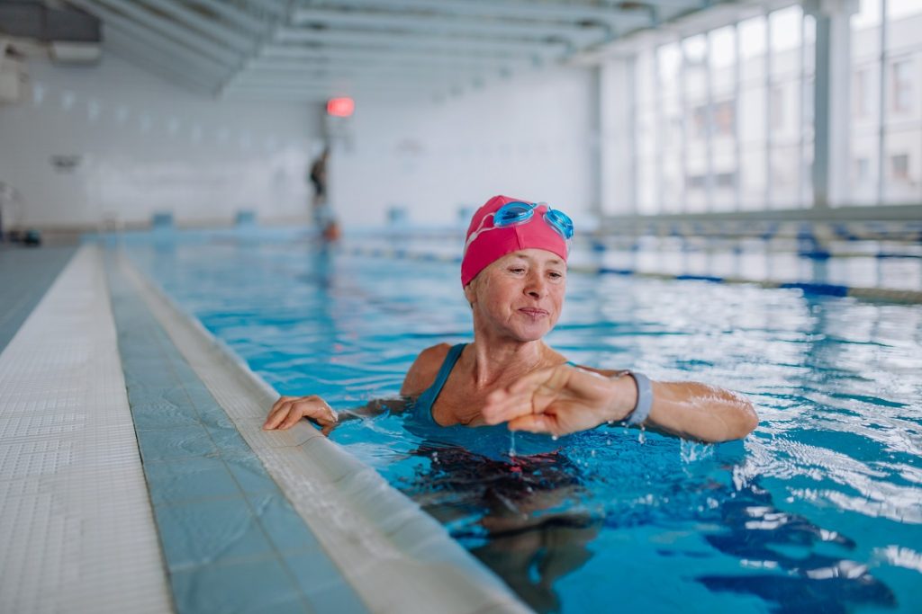
<svg viewBox="0 0 922 614">
<path fill-rule="evenodd" d="M 513 430 L 568 434 L 621 422 L 637 404 L 632 377 L 560 365 L 520 378 L 487 398 L 487 423 Z M 652 382 L 653 405 L 643 426 L 705 442 L 740 439 L 759 420 L 744 397 L 695 382 Z"/>
</svg>

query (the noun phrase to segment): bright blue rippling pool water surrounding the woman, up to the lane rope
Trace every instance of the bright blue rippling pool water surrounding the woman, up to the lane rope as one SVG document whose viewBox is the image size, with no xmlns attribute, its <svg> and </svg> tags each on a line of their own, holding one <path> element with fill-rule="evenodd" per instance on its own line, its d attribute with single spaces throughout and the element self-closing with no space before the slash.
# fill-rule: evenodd
<svg viewBox="0 0 922 614">
<path fill-rule="evenodd" d="M 340 411 L 396 396 L 421 349 L 470 341 L 455 264 L 297 232 L 129 251 L 280 393 Z M 538 611 L 922 611 L 922 307 L 576 274 L 567 300 L 548 342 L 568 358 L 738 390 L 758 429 L 553 441 L 395 411 L 331 437 Z"/>
</svg>

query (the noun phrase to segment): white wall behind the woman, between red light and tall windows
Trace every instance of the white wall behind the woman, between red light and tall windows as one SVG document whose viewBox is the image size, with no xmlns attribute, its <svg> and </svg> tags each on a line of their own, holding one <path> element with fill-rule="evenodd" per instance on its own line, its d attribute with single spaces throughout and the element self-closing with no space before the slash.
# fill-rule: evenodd
<svg viewBox="0 0 922 614">
<path fill-rule="evenodd" d="M 391 206 L 444 224 L 502 193 L 546 201 L 578 225 L 597 200 L 592 87 L 588 69 L 561 68 L 443 102 L 356 98 L 331 159 L 334 206 L 347 224 L 382 224 Z"/>
</svg>

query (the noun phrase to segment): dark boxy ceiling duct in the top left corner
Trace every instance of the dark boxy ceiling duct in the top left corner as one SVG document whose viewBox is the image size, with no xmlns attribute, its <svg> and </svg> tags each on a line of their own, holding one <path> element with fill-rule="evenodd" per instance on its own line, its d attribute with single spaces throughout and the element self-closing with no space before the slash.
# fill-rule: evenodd
<svg viewBox="0 0 922 614">
<path fill-rule="evenodd" d="M 25 41 L 27 49 L 40 43 L 57 62 L 99 61 L 101 31 L 99 18 L 72 6 L 46 6 L 37 0 L 0 2 L 0 37 L 12 39 L 14 46 Z"/>
</svg>

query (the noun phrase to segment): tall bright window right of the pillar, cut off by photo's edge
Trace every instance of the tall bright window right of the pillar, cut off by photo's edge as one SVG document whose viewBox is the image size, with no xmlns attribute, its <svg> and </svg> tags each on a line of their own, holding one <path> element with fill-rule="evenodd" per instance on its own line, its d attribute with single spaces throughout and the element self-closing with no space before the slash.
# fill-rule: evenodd
<svg viewBox="0 0 922 614">
<path fill-rule="evenodd" d="M 851 18 L 851 198 L 922 199 L 922 0 L 861 0 Z"/>
</svg>

